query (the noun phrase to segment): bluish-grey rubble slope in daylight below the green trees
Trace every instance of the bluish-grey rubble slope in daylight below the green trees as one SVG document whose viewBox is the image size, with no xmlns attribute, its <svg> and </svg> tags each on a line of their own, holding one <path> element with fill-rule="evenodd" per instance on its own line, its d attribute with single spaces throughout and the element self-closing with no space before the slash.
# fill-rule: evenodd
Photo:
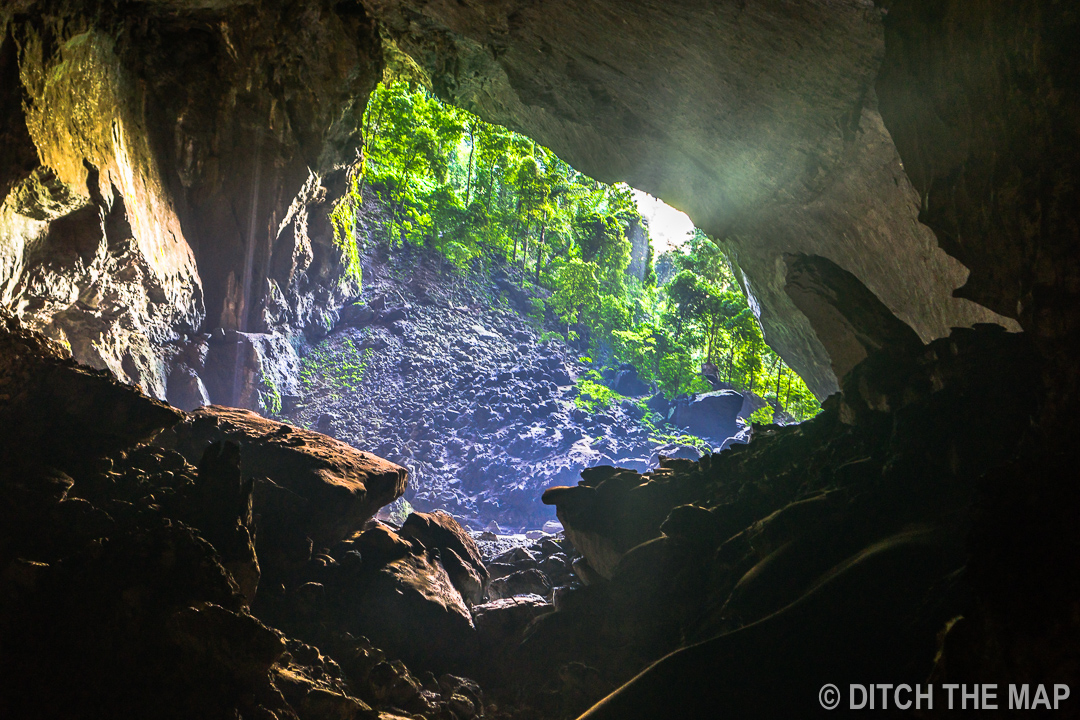
<svg viewBox="0 0 1080 720">
<path fill-rule="evenodd" d="M 542 528 L 555 517 L 540 494 L 584 467 L 698 457 L 642 422 L 640 383 L 642 403 L 577 407 L 584 352 L 541 341 L 528 295 L 504 271 L 465 281 L 441 264 L 419 252 L 369 256 L 363 297 L 309 350 L 285 418 L 408 467 L 408 502 L 476 529 Z"/>
</svg>

